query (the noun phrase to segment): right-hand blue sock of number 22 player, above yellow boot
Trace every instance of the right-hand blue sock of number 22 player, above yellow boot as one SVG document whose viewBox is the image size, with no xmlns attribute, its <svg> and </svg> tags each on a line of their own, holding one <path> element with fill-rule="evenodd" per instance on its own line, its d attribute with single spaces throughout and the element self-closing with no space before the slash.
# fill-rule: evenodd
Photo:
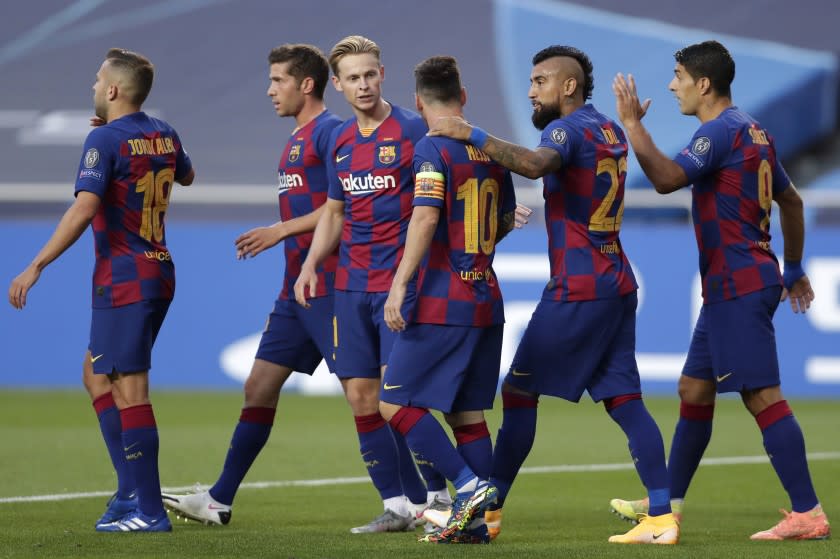
<svg viewBox="0 0 840 559">
<path fill-rule="evenodd" d="M 630 456 L 642 484 L 648 490 L 651 516 L 671 512 L 668 470 L 665 467 L 665 443 L 659 427 L 648 413 L 641 394 L 625 394 L 604 400 L 610 417 L 627 435 Z"/>
</svg>

